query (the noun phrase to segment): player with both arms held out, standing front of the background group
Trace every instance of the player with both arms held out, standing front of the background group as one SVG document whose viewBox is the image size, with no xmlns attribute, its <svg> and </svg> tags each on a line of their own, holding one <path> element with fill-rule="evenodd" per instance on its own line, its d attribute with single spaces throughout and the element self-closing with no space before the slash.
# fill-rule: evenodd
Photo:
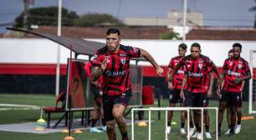
<svg viewBox="0 0 256 140">
<path fill-rule="evenodd" d="M 173 80 L 173 73 L 177 72 L 179 67 L 185 67 L 185 74 L 182 81 L 181 97 L 185 97 L 185 107 L 207 107 L 207 76 L 209 69 L 212 69 L 220 78 L 218 68 L 206 56 L 201 54 L 201 46 L 194 42 L 190 48 L 191 54 L 183 57 L 181 62 L 174 67 L 170 81 Z M 187 85 L 187 92 L 184 95 L 184 86 Z M 195 111 L 195 125 L 197 128 L 197 139 L 202 139 L 201 134 L 201 111 Z M 188 136 L 190 136 L 189 134 Z"/>
</svg>

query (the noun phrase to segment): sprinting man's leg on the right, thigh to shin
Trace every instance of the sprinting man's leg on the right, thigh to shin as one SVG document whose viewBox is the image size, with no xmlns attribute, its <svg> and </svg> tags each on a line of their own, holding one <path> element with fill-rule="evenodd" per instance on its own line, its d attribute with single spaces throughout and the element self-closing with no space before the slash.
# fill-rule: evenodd
<svg viewBox="0 0 256 140">
<path fill-rule="evenodd" d="M 125 112 L 125 108 L 129 104 L 130 97 L 131 97 L 131 91 L 127 91 L 127 92 L 121 93 L 120 96 L 115 97 L 115 101 L 114 101 L 113 116 L 115 117 L 115 121 L 117 122 L 117 125 L 120 129 L 122 140 L 128 140 L 126 121 L 123 114 Z"/>
</svg>

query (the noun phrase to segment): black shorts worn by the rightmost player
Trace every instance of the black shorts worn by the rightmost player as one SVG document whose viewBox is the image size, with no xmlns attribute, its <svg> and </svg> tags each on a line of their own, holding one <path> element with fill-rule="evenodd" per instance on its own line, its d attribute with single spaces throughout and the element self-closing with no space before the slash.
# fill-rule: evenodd
<svg viewBox="0 0 256 140">
<path fill-rule="evenodd" d="M 242 93 L 222 91 L 222 97 L 219 102 L 228 102 L 228 107 L 242 107 Z"/>
</svg>

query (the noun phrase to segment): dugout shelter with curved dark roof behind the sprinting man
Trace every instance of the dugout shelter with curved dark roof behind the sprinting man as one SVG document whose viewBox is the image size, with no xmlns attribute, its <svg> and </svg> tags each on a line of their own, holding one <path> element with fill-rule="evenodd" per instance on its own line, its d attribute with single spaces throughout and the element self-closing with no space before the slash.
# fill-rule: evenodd
<svg viewBox="0 0 256 140">
<path fill-rule="evenodd" d="M 69 37 L 59 37 L 50 34 L 41 34 L 38 32 L 30 32 L 18 28 L 7 28 L 9 30 L 31 33 L 38 37 L 47 38 L 53 42 L 59 43 L 60 45 L 68 48 L 70 50 L 70 58 L 67 61 L 67 77 L 66 77 L 66 99 L 65 107 L 62 112 L 64 116 L 67 116 L 69 111 L 69 105 L 71 112 L 82 111 L 82 117 L 84 118 L 84 111 L 87 119 L 90 117 L 90 110 L 93 109 L 93 95 L 90 90 L 89 79 L 84 72 L 84 63 L 87 60 L 78 59 L 79 55 L 85 55 L 92 57 L 95 50 L 104 47 L 105 43 L 92 42 L 84 39 L 69 38 Z M 72 58 L 72 52 L 74 52 L 74 58 Z M 131 66 L 131 83 L 132 83 L 132 97 L 129 107 L 141 107 L 142 106 L 142 68 L 137 66 L 138 61 L 144 61 L 144 59 L 136 58 L 134 61 L 135 65 Z M 72 69 L 72 71 L 70 71 Z M 70 78 L 71 77 L 71 78 Z M 72 85 L 72 86 L 70 86 Z M 69 94 L 70 93 L 70 94 Z M 69 98 L 70 95 L 70 98 Z M 69 101 L 71 101 L 69 103 Z M 53 113 L 53 112 L 50 112 Z M 88 114 L 89 113 L 89 114 Z M 61 119 L 64 118 L 61 117 Z M 83 121 L 82 121 L 83 122 Z"/>
</svg>

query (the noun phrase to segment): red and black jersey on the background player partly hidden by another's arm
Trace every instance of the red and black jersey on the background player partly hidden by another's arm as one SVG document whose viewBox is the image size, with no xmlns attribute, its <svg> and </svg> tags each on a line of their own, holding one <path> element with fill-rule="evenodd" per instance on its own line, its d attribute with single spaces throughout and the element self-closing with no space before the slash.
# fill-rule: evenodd
<svg viewBox="0 0 256 140">
<path fill-rule="evenodd" d="M 182 59 L 182 57 L 180 57 L 180 56 L 173 57 L 171 59 L 171 61 L 169 62 L 168 67 L 172 68 L 172 70 L 173 70 L 174 67 L 181 61 L 181 59 Z M 171 72 L 172 71 L 170 71 L 170 73 Z M 182 66 L 173 75 L 173 81 L 172 81 L 173 88 L 176 88 L 176 89 L 181 89 L 182 88 L 183 77 L 184 77 L 184 67 Z"/>
</svg>

